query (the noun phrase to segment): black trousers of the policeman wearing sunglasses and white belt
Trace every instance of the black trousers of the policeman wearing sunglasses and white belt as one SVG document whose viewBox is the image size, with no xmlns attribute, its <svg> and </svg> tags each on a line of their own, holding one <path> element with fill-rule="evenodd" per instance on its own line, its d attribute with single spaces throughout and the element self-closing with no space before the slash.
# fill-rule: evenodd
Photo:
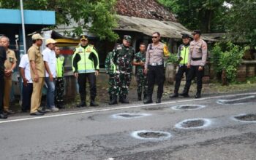
<svg viewBox="0 0 256 160">
<path fill-rule="evenodd" d="M 164 92 L 164 82 L 165 82 L 165 69 L 164 65 L 148 65 L 148 97 L 152 97 L 154 84 L 157 81 L 157 97 L 161 98 Z"/>
</svg>

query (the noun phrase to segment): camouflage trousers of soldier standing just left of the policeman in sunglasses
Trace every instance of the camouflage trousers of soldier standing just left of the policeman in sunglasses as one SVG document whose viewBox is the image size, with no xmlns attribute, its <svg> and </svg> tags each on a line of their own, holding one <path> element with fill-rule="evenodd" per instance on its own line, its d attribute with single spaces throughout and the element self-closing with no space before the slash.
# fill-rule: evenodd
<svg viewBox="0 0 256 160">
<path fill-rule="evenodd" d="M 143 95 L 147 95 L 148 93 L 148 79 L 147 76 L 143 73 L 136 74 L 136 81 L 138 84 L 137 92 L 138 95 L 141 95 L 143 92 Z"/>
</svg>

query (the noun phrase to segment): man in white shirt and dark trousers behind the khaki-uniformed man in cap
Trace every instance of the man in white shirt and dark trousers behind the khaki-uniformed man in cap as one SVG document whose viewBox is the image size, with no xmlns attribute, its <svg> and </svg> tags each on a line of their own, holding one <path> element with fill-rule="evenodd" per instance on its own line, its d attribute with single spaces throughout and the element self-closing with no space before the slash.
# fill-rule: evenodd
<svg viewBox="0 0 256 160">
<path fill-rule="evenodd" d="M 30 74 L 29 56 L 23 55 L 20 60 L 20 76 L 23 81 L 22 88 L 22 108 L 21 111 L 30 111 L 31 95 L 33 92 L 33 81 Z"/>
</svg>

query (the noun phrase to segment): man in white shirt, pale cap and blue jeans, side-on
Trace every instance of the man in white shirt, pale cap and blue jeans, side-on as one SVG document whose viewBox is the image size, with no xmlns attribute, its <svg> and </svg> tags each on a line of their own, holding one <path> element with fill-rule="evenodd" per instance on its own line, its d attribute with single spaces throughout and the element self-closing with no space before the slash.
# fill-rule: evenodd
<svg viewBox="0 0 256 160">
<path fill-rule="evenodd" d="M 46 40 L 46 48 L 42 51 L 45 63 L 45 82 L 47 84 L 46 108 L 47 111 L 59 111 L 54 104 L 55 79 L 56 79 L 56 55 L 54 52 L 56 41 L 53 39 Z"/>
</svg>

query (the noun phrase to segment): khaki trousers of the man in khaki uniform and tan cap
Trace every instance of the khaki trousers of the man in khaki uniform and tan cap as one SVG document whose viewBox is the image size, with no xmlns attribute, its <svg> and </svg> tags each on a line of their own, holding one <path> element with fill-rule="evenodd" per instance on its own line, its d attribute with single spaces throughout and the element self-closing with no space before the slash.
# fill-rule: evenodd
<svg viewBox="0 0 256 160">
<path fill-rule="evenodd" d="M 41 105 L 42 87 L 44 86 L 45 78 L 40 77 L 37 82 L 33 82 L 33 92 L 31 96 L 31 108 L 30 113 L 37 112 L 37 109 Z"/>
</svg>

